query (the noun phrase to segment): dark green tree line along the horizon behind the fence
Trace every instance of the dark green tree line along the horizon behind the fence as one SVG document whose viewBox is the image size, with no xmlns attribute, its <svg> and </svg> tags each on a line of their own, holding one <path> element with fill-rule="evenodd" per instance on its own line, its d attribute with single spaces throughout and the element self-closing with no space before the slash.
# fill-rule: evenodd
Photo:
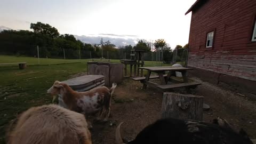
<svg viewBox="0 0 256 144">
<path fill-rule="evenodd" d="M 107 58 L 106 51 L 109 52 L 108 56 L 111 59 L 123 59 L 124 53 L 130 53 L 131 49 L 143 49 L 146 52 L 165 51 L 171 54 L 171 47 L 164 39 L 157 39 L 155 42 L 141 39 L 134 46 L 117 47 L 110 41 L 101 41 L 99 44 L 83 43 L 74 35 L 60 35 L 57 28 L 47 23 L 31 23 L 30 29 L 33 31 L 2 31 L 0 33 L 0 54 L 37 57 L 37 46 L 39 46 L 40 57 L 44 58 L 63 58 L 63 49 L 65 49 L 66 57 L 72 59 L 78 59 L 81 55 L 86 58 Z M 103 55 L 101 49 L 105 51 Z"/>
</svg>

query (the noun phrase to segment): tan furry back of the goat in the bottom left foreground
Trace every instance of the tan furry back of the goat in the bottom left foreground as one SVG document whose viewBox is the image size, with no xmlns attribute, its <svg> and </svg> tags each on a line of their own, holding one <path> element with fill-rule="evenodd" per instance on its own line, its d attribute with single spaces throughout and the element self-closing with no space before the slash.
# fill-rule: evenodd
<svg viewBox="0 0 256 144">
<path fill-rule="evenodd" d="M 92 143 L 84 115 L 52 104 L 26 110 L 7 133 L 8 144 Z"/>
</svg>

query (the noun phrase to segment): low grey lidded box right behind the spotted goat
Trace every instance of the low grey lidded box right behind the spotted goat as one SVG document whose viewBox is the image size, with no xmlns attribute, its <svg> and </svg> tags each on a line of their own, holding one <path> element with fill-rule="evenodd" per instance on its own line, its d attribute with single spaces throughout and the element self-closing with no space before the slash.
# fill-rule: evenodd
<svg viewBox="0 0 256 144">
<path fill-rule="evenodd" d="M 85 75 L 67 79 L 66 81 L 62 81 L 62 83 L 68 84 L 74 91 L 84 92 L 89 91 L 94 87 L 105 85 L 105 80 L 102 75 Z M 59 94 L 58 100 L 59 106 L 67 108 L 63 102 L 62 95 Z"/>
</svg>

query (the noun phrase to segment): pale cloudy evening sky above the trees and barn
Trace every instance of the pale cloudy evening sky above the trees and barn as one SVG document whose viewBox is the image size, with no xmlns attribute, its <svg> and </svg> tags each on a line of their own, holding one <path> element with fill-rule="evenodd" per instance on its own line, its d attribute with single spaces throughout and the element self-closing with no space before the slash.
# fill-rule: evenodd
<svg viewBox="0 0 256 144">
<path fill-rule="evenodd" d="M 163 38 L 174 49 L 188 43 L 191 13 L 185 13 L 195 1 L 1 0 L 0 26 L 30 30 L 31 22 L 40 21 L 60 34 L 104 36 L 112 38 L 110 42 L 113 38 Z"/>
</svg>

